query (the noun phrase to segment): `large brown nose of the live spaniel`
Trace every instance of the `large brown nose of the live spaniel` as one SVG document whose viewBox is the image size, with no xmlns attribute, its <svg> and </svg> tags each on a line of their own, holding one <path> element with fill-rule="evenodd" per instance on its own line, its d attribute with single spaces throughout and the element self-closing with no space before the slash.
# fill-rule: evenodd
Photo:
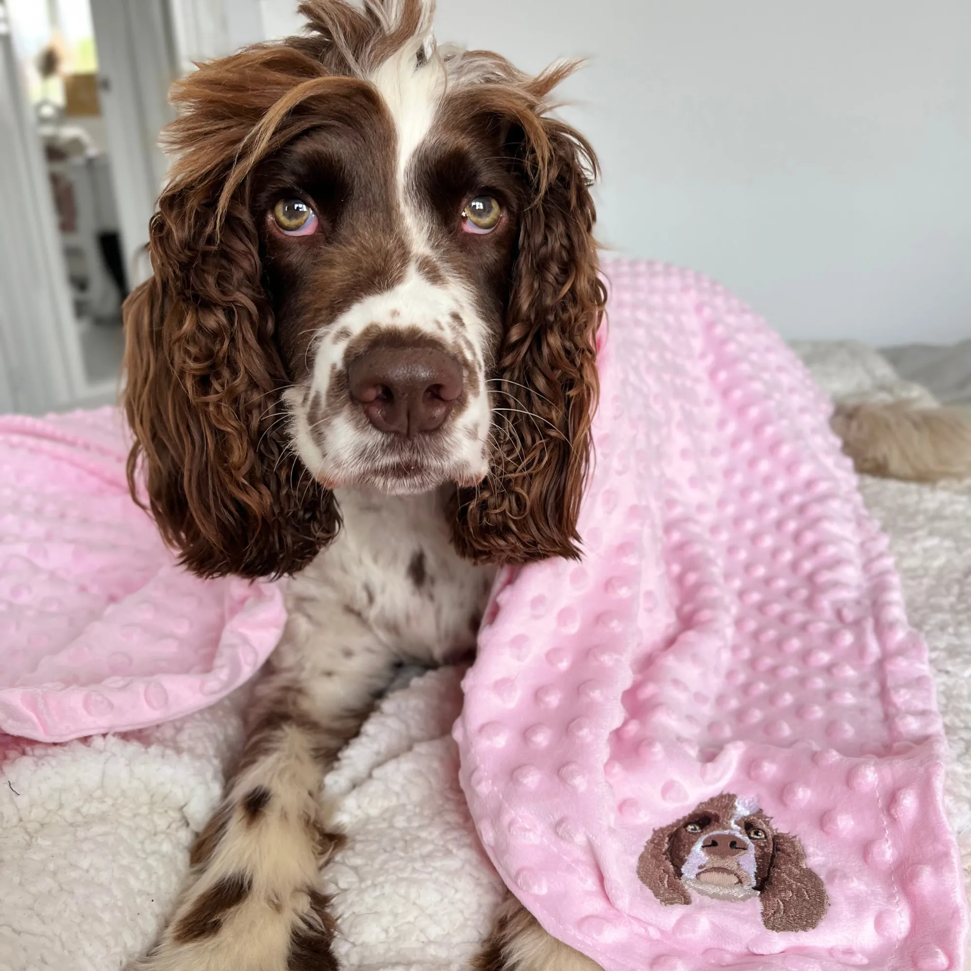
<svg viewBox="0 0 971 971">
<path fill-rule="evenodd" d="M 351 396 L 379 431 L 434 431 L 462 393 L 462 366 L 436 348 L 374 348 L 348 367 Z"/>
</svg>

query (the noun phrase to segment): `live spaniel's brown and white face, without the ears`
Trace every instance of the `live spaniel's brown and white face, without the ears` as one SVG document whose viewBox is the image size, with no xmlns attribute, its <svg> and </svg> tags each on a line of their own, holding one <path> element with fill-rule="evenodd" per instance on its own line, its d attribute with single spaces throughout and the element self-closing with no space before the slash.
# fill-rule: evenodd
<svg viewBox="0 0 971 971">
<path fill-rule="evenodd" d="M 385 64 L 351 123 L 254 174 L 294 443 L 324 485 L 414 492 L 488 473 L 486 381 L 528 200 L 508 132 L 466 120 L 445 81 L 434 60 Z"/>
</svg>

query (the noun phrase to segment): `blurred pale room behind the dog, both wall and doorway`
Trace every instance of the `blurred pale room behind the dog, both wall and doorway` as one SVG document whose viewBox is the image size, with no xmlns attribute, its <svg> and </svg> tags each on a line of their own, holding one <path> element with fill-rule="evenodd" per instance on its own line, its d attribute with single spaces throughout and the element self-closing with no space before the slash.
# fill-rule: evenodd
<svg viewBox="0 0 971 971">
<path fill-rule="evenodd" d="M 0 413 L 114 399 L 166 89 L 300 23 L 0 0 Z M 601 156 L 608 255 L 714 276 L 787 338 L 907 348 L 971 401 L 968 0 L 439 0 L 436 30 L 533 71 L 589 58 L 563 112 Z"/>
</svg>

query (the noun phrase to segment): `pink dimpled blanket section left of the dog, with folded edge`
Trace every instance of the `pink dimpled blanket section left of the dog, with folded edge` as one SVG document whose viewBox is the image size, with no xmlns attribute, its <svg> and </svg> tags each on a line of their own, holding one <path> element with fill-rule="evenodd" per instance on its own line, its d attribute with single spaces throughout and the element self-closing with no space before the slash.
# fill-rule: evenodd
<svg viewBox="0 0 971 971">
<path fill-rule="evenodd" d="M 0 732 L 62 742 L 214 704 L 285 623 L 277 584 L 200 580 L 128 494 L 111 408 L 0 418 Z"/>
</svg>

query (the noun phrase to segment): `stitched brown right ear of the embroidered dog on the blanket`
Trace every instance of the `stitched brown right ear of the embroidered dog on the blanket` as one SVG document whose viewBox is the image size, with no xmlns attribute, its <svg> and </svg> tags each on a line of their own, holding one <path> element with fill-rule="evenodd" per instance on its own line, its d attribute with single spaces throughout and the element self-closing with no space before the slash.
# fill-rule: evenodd
<svg viewBox="0 0 971 971">
<path fill-rule="evenodd" d="M 820 877 L 806 865 L 802 844 L 787 833 L 773 836 L 772 862 L 759 896 L 768 930 L 812 930 L 829 906 Z"/>
</svg>

